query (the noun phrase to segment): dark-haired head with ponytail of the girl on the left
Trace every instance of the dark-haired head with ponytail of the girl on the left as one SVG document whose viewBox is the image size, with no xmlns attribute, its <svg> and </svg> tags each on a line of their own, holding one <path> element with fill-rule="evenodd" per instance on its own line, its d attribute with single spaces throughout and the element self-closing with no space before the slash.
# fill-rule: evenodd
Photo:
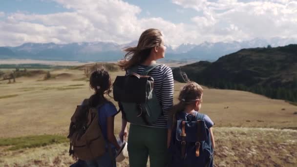
<svg viewBox="0 0 297 167">
<path fill-rule="evenodd" d="M 90 97 L 90 105 L 96 106 L 105 94 L 109 94 L 111 81 L 109 74 L 104 69 L 97 69 L 90 75 L 90 88 L 95 90 L 95 94 Z"/>
</svg>

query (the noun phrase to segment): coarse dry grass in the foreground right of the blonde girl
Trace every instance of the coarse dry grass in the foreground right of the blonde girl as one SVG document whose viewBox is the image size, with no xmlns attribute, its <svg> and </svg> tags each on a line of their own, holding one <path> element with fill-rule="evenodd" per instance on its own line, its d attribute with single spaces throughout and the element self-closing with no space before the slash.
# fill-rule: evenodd
<svg viewBox="0 0 297 167">
<path fill-rule="evenodd" d="M 296 167 L 297 130 L 216 128 L 217 167 Z"/>
</svg>

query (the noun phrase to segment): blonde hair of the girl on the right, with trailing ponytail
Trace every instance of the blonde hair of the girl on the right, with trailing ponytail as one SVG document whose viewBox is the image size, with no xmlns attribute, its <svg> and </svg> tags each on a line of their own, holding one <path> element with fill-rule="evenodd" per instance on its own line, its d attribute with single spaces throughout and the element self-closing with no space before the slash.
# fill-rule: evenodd
<svg viewBox="0 0 297 167">
<path fill-rule="evenodd" d="M 179 93 L 178 100 L 179 103 L 175 104 L 170 112 L 170 117 L 173 120 L 173 124 L 175 124 L 175 115 L 178 112 L 184 111 L 186 106 L 189 104 L 193 104 L 196 100 L 202 100 L 203 88 L 195 83 L 189 82 L 186 84 Z"/>
</svg>

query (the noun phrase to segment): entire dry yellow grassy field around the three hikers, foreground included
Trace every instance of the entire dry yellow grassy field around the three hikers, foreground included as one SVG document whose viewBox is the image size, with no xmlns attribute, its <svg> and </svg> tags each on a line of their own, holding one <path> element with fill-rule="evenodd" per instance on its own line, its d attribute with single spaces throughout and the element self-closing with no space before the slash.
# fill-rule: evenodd
<svg viewBox="0 0 297 167">
<path fill-rule="evenodd" d="M 114 80 L 124 72 L 110 74 Z M 0 166 L 60 167 L 74 162 L 67 155 L 67 143 L 49 140 L 33 148 L 17 149 L 11 149 L 14 145 L 3 144 L 15 137 L 66 136 L 76 105 L 93 91 L 83 70 L 52 70 L 51 75 L 54 77 L 49 80 L 43 80 L 44 74 L 39 74 L 17 78 L 15 84 L 0 81 Z M 178 82 L 174 85 L 175 103 L 182 86 Z M 215 166 L 297 165 L 294 150 L 297 147 L 297 105 L 249 92 L 207 87 L 204 87 L 203 97 L 201 112 L 215 123 Z M 120 119 L 119 114 L 115 121 L 116 133 Z M 127 161 L 119 164 L 119 167 L 125 166 Z"/>
</svg>

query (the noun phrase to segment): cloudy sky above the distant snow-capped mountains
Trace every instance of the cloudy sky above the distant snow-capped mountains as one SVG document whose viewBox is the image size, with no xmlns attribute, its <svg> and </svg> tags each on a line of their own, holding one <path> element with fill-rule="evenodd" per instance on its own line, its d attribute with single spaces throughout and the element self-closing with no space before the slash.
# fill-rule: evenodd
<svg viewBox="0 0 297 167">
<path fill-rule="evenodd" d="M 25 42 L 165 43 L 297 38 L 297 0 L 0 0 L 0 46 Z"/>
</svg>

